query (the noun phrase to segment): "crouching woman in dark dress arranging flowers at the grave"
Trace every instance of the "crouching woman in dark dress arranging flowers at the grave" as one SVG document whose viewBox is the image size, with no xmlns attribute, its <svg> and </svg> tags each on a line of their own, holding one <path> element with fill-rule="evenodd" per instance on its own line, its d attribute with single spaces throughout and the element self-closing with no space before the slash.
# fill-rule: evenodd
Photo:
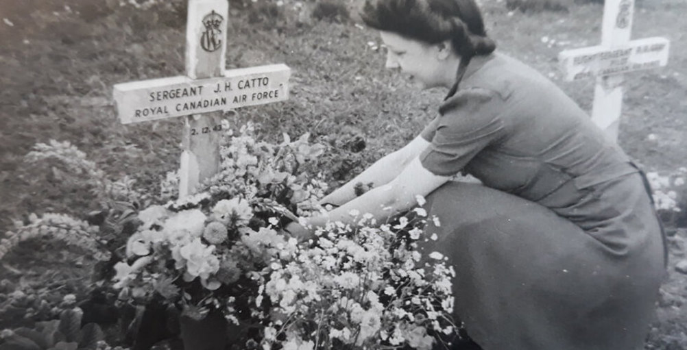
<svg viewBox="0 0 687 350">
<path fill-rule="evenodd" d="M 455 313 L 480 347 L 642 349 L 665 251 L 640 171 L 552 82 L 495 52 L 473 0 L 379 0 L 363 19 L 388 68 L 449 93 L 416 139 L 308 224 L 351 209 L 381 221 L 427 196 L 440 226 L 425 249 L 455 266 Z M 483 185 L 449 181 L 459 172 Z M 359 182 L 376 187 L 355 198 Z"/>
</svg>

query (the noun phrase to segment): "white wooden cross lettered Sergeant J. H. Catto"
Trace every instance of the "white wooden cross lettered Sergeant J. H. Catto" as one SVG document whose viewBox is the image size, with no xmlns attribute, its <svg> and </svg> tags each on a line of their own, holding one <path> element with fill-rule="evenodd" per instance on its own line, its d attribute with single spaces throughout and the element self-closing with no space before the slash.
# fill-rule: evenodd
<svg viewBox="0 0 687 350">
<path fill-rule="evenodd" d="M 222 111 L 289 98 L 286 65 L 226 69 L 228 16 L 227 0 L 189 0 L 186 75 L 114 86 L 123 124 L 186 116 L 179 198 L 219 171 Z"/>
</svg>

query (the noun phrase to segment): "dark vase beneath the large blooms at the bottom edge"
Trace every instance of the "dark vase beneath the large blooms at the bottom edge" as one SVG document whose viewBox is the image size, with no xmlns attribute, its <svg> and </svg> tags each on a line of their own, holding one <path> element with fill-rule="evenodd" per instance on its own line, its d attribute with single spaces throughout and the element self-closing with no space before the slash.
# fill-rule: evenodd
<svg viewBox="0 0 687 350">
<path fill-rule="evenodd" d="M 218 312 L 202 320 L 181 316 L 179 326 L 184 350 L 224 350 L 227 346 L 227 320 Z"/>
</svg>

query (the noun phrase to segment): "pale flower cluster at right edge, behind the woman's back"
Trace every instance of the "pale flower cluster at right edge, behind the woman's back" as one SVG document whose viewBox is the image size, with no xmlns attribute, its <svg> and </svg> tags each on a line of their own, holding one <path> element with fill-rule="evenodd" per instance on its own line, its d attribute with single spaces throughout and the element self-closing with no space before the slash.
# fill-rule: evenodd
<svg viewBox="0 0 687 350">
<path fill-rule="evenodd" d="M 673 174 L 646 173 L 646 178 L 649 180 L 653 192 L 656 209 L 674 212 L 682 211 L 679 201 L 686 200 L 686 198 L 681 198 L 687 193 L 686 177 L 687 168 L 685 167 L 680 167 Z"/>
</svg>

